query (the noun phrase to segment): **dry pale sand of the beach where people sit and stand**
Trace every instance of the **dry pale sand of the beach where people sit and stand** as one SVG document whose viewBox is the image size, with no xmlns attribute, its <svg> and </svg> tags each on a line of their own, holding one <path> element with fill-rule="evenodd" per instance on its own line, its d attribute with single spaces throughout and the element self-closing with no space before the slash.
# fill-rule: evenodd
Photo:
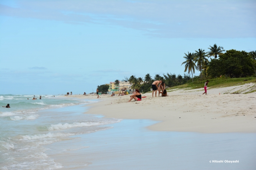
<svg viewBox="0 0 256 170">
<path fill-rule="evenodd" d="M 159 122 L 147 127 L 155 131 L 255 133 L 255 94 L 222 94 L 230 89 L 234 87 L 208 89 L 208 95 L 202 95 L 202 89 L 178 89 L 168 92 L 168 97 L 154 98 L 152 93 L 145 93 L 142 96 L 146 98 L 142 101 L 130 103 L 126 103 L 130 95 L 101 95 L 100 102 L 87 105 L 89 109 L 84 114 L 115 119 L 151 119 Z M 65 97 L 97 99 L 96 95 Z"/>
</svg>

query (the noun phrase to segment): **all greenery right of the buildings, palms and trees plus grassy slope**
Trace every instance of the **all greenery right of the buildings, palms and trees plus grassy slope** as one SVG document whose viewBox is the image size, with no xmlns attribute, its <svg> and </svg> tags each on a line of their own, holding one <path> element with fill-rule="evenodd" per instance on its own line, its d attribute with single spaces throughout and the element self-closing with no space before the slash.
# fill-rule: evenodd
<svg viewBox="0 0 256 170">
<path fill-rule="evenodd" d="M 256 82 L 256 51 L 236 51 L 234 49 L 224 50 L 223 47 L 214 44 L 210 46 L 210 51 L 205 52 L 204 49 L 198 49 L 195 53 L 188 52 L 185 54 L 184 72 L 188 71 L 188 75 L 184 74 L 176 76 L 176 74 L 166 73 L 163 76 L 156 74 L 154 79 L 150 74 L 146 74 L 144 81 L 141 77 L 136 78 L 132 75 L 129 79 L 125 77 L 125 81 L 132 83 L 132 89 L 139 89 L 144 93 L 150 91 L 153 81 L 162 80 L 165 85 L 170 87 L 168 90 L 188 88 L 198 89 L 204 87 L 205 81 L 210 81 L 211 88 L 229 87 L 234 85 L 242 85 L 245 83 Z M 226 51 L 224 53 L 224 51 Z M 214 57 L 214 59 L 208 58 Z M 200 71 L 199 76 L 194 76 L 195 69 Z M 192 74 L 192 79 L 190 77 Z M 247 81 L 244 81 L 244 80 Z M 254 91 L 254 87 L 250 93 Z"/>
</svg>

